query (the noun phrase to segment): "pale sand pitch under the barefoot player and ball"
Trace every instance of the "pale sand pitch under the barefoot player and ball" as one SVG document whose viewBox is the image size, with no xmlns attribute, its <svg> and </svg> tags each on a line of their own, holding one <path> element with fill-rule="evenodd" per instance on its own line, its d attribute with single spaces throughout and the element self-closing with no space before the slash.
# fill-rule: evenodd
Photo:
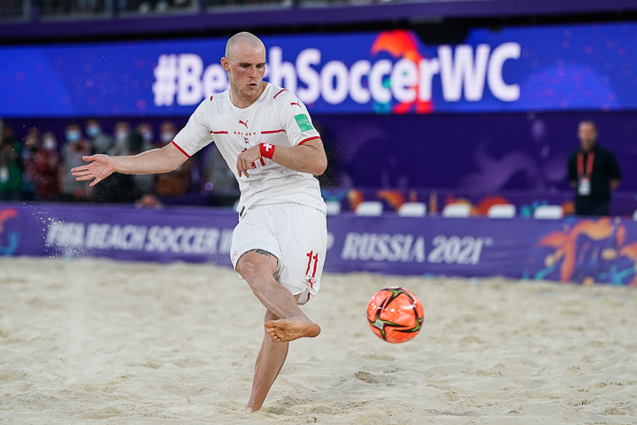
<svg viewBox="0 0 637 425">
<path fill-rule="evenodd" d="M 425 307 L 406 344 L 365 306 L 399 285 Z M 637 293 L 505 279 L 327 274 L 246 413 L 265 309 L 229 268 L 0 259 L 0 422 L 637 423 Z"/>
</svg>

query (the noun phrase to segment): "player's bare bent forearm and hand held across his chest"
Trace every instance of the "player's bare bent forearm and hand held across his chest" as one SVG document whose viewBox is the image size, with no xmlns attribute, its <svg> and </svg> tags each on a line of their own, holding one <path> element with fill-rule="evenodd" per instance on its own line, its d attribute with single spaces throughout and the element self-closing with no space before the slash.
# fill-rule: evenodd
<svg viewBox="0 0 637 425">
<path fill-rule="evenodd" d="M 239 176 L 247 170 L 255 168 L 253 165 L 261 158 L 260 147 L 252 146 L 248 151 L 237 157 L 237 171 Z M 276 146 L 272 161 L 286 166 L 291 170 L 314 175 L 323 174 L 327 167 L 327 157 L 320 139 L 312 139 L 298 146 Z"/>
</svg>

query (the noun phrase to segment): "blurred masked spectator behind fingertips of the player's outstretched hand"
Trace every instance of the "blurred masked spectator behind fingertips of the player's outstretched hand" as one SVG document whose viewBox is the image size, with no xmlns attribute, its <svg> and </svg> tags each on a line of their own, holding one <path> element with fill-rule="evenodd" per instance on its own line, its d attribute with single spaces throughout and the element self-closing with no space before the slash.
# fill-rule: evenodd
<svg viewBox="0 0 637 425">
<path fill-rule="evenodd" d="M 82 157 L 90 155 L 88 143 L 81 135 L 81 128 L 77 124 L 66 127 L 66 144 L 62 151 L 62 166 L 60 167 L 60 186 L 62 197 L 66 201 L 83 201 L 89 194 L 86 184 L 77 182 L 71 174 L 71 168 L 84 163 Z"/>
</svg>

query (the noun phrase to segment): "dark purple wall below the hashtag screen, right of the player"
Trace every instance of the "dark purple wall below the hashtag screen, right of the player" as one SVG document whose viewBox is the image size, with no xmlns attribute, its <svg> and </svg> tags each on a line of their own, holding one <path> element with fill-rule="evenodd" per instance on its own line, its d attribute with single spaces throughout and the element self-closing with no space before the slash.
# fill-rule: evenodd
<svg viewBox="0 0 637 425">
<path fill-rule="evenodd" d="M 637 112 L 319 116 L 341 183 L 496 192 L 570 189 L 565 163 L 581 120 L 615 152 L 619 190 L 637 191 Z"/>
</svg>

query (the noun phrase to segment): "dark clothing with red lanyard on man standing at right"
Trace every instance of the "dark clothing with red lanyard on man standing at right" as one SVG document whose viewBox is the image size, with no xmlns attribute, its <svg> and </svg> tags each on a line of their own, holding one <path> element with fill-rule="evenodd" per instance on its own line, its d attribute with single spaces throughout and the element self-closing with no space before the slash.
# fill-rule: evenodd
<svg viewBox="0 0 637 425">
<path fill-rule="evenodd" d="M 579 149 L 568 162 L 569 181 L 575 185 L 575 215 L 610 215 L 610 180 L 621 180 L 615 155 L 598 144 Z"/>
</svg>

